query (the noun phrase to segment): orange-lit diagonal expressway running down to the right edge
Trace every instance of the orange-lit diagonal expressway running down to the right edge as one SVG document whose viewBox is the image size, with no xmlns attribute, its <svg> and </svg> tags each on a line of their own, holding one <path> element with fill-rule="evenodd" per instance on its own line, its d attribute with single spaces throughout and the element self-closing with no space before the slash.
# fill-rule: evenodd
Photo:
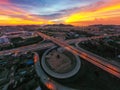
<svg viewBox="0 0 120 90">
<path fill-rule="evenodd" d="M 108 60 L 98 57 L 97 55 L 91 54 L 90 52 L 84 50 L 84 49 L 76 49 L 69 45 L 66 42 L 60 41 L 56 38 L 50 37 L 48 35 L 45 35 L 41 32 L 37 32 L 41 37 L 48 39 L 52 41 L 53 43 L 65 48 L 66 50 L 80 56 L 84 60 L 96 65 L 97 67 L 109 72 L 110 74 L 120 78 L 120 65 L 115 65 L 113 63 L 108 62 Z M 119 34 L 116 34 L 116 36 Z M 98 39 L 103 38 L 104 36 L 98 36 L 98 37 L 92 37 L 92 39 Z M 85 39 L 84 39 L 85 40 Z"/>
</svg>

